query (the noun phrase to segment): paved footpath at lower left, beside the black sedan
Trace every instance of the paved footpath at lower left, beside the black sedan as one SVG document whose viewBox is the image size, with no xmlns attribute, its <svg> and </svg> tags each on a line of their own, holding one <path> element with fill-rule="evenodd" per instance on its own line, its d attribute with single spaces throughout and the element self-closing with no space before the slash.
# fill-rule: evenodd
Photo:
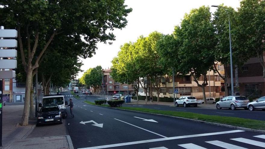
<svg viewBox="0 0 265 149">
<path fill-rule="evenodd" d="M 6 104 L 3 107 L 2 149 L 73 149 L 70 136 L 65 129 L 59 136 L 49 132 L 49 126 L 36 127 L 36 120 L 29 120 L 28 126 L 20 126 L 24 105 Z M 51 127 L 54 127 L 50 126 Z M 39 134 L 38 134 L 39 132 Z M 42 135 L 47 132 L 49 136 Z M 54 136 L 53 136 L 54 135 Z"/>
</svg>

